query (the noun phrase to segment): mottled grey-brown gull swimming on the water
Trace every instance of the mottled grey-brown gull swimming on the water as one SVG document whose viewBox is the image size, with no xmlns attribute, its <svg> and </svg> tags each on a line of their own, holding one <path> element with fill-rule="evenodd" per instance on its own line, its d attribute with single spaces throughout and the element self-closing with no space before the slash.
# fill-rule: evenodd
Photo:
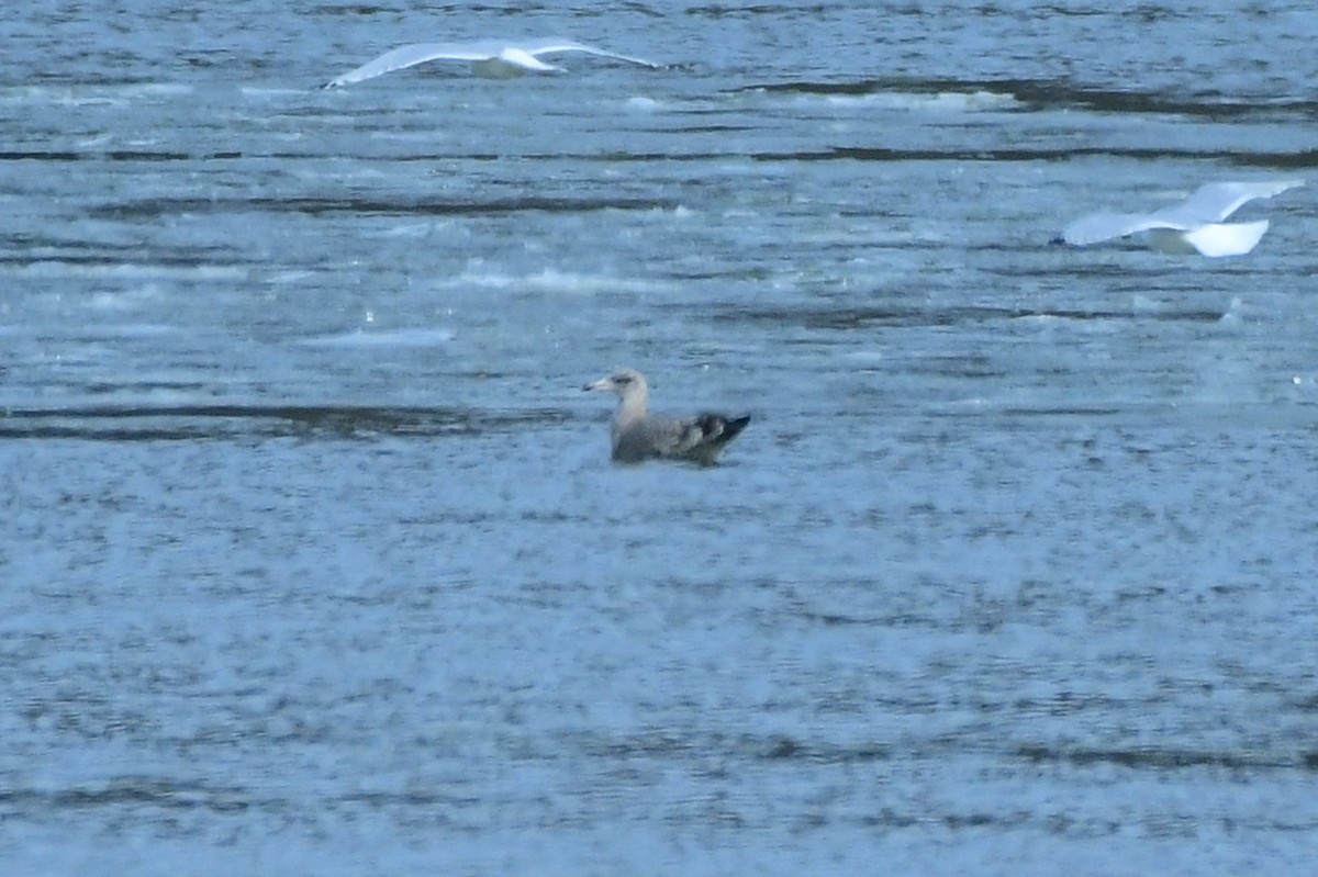
<svg viewBox="0 0 1318 877">
<path fill-rule="evenodd" d="M 608 378 L 585 385 L 585 390 L 614 392 L 618 410 L 613 415 L 613 460 L 638 464 L 646 460 L 683 460 L 712 466 L 718 453 L 735 438 L 750 415 L 726 417 L 699 413 L 693 417 L 663 417 L 646 413 L 648 388 L 635 369 L 623 369 Z"/>
</svg>

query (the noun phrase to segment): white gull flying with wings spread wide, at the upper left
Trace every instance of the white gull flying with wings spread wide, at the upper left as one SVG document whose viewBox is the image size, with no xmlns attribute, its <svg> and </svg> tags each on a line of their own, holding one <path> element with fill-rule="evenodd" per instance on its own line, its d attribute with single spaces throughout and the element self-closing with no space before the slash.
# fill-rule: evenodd
<svg viewBox="0 0 1318 877">
<path fill-rule="evenodd" d="M 349 70 L 337 79 L 326 84 L 326 88 L 351 86 L 355 82 L 372 79 L 394 70 L 415 67 L 428 61 L 471 61 L 473 71 L 480 76 L 493 79 L 507 79 L 521 76 L 527 71 L 556 71 L 563 70 L 540 61 L 540 55 L 552 55 L 561 51 L 583 51 L 588 55 L 626 61 L 627 63 L 643 67 L 662 67 L 652 61 L 619 55 L 594 46 L 587 46 L 572 40 L 523 40 L 509 42 L 505 40 L 473 40 L 469 42 L 419 42 L 401 46 L 393 51 L 386 51 L 374 61 L 368 61 L 356 70 Z"/>
</svg>

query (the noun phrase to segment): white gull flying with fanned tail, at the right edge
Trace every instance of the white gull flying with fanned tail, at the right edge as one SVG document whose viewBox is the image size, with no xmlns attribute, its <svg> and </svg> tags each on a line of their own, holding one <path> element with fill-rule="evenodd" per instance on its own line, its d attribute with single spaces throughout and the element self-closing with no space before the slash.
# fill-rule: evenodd
<svg viewBox="0 0 1318 877">
<path fill-rule="evenodd" d="M 1207 183 L 1180 204 L 1152 213 L 1090 213 L 1065 229 L 1058 241 L 1086 246 L 1114 237 L 1145 232 L 1148 245 L 1164 253 L 1243 255 L 1257 246 L 1268 220 L 1223 223 L 1240 205 L 1304 186 L 1302 179 L 1257 183 Z"/>
</svg>

